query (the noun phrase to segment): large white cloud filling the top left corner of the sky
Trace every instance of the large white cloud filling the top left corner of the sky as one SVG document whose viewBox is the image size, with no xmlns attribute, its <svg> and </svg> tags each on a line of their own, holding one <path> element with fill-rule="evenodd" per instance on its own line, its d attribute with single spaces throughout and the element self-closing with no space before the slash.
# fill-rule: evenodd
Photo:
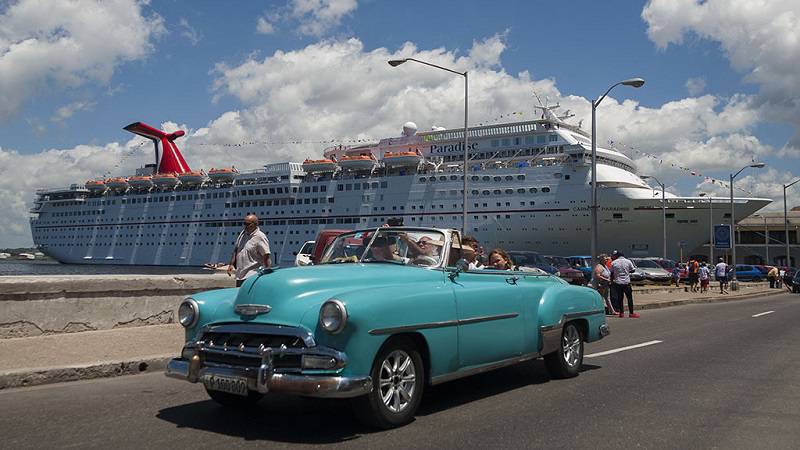
<svg viewBox="0 0 800 450">
<path fill-rule="evenodd" d="M 162 32 L 162 19 L 136 0 L 9 4 L 0 15 L 0 120 L 42 90 L 108 83 Z"/>
</svg>

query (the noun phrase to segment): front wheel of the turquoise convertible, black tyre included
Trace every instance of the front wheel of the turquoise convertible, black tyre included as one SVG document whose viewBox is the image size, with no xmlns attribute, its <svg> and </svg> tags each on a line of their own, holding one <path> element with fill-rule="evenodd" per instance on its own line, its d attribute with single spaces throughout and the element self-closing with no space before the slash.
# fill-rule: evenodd
<svg viewBox="0 0 800 450">
<path fill-rule="evenodd" d="M 411 422 L 425 384 L 425 367 L 414 343 L 402 337 L 388 341 L 375 357 L 370 375 L 372 392 L 353 399 L 356 417 L 381 429 Z"/>
</svg>

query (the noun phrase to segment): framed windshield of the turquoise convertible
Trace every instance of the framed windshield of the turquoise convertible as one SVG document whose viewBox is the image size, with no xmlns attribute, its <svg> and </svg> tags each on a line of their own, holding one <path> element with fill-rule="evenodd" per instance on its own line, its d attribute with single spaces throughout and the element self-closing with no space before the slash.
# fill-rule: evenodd
<svg viewBox="0 0 800 450">
<path fill-rule="evenodd" d="M 431 230 L 379 228 L 336 237 L 320 264 L 392 263 L 438 266 L 444 254 L 444 234 Z"/>
</svg>

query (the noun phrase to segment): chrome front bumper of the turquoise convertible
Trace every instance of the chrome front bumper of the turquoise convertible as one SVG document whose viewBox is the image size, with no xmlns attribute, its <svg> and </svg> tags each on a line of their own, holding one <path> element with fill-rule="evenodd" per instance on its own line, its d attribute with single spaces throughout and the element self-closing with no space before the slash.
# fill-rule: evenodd
<svg viewBox="0 0 800 450">
<path fill-rule="evenodd" d="M 269 367 L 202 366 L 199 358 L 191 361 L 175 358 L 167 364 L 170 378 L 197 383 L 206 376 L 217 375 L 247 380 L 247 388 L 266 394 L 280 392 L 307 397 L 350 398 L 372 391 L 371 377 L 338 377 L 274 373 Z"/>
</svg>

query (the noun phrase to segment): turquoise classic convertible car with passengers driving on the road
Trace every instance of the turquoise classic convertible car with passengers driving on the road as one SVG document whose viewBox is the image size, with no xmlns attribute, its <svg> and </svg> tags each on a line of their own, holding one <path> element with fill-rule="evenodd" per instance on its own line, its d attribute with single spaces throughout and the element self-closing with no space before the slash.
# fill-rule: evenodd
<svg viewBox="0 0 800 450">
<path fill-rule="evenodd" d="M 225 406 L 264 394 L 350 398 L 380 428 L 413 419 L 425 387 L 543 357 L 572 377 L 608 334 L 593 290 L 542 272 L 470 270 L 458 231 L 338 236 L 314 266 L 261 270 L 179 307 L 186 344 L 167 376 Z"/>
</svg>

